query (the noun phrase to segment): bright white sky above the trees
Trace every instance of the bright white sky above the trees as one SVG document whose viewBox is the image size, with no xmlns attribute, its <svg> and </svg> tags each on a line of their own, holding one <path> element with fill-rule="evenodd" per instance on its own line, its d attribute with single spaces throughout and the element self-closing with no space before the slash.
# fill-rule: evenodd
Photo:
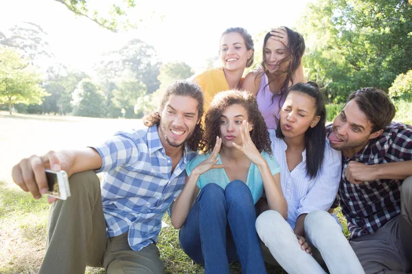
<svg viewBox="0 0 412 274">
<path fill-rule="evenodd" d="M 144 23 L 137 31 L 117 34 L 75 16 L 54 0 L 0 1 L 0 32 L 23 21 L 41 25 L 57 62 L 87 73 L 100 53 L 120 49 L 132 38 L 153 45 L 163 62 L 183 61 L 196 70 L 217 55 L 220 34 L 227 27 L 244 27 L 252 37 L 271 27 L 294 27 L 310 1 L 137 0 L 135 9 Z"/>
</svg>

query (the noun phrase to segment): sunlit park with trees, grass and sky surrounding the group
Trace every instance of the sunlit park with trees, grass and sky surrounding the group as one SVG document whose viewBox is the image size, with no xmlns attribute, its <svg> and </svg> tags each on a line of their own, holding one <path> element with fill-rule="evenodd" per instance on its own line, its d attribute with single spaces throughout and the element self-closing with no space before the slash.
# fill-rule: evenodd
<svg viewBox="0 0 412 274">
<path fill-rule="evenodd" d="M 251 69 L 262 60 L 271 27 L 302 34 L 304 72 L 324 92 L 328 121 L 350 92 L 375 86 L 395 103 L 395 120 L 412 124 L 412 0 L 284 2 L 0 3 L 0 273 L 36 273 L 45 252 L 49 205 L 12 184 L 12 166 L 34 153 L 96 145 L 119 129 L 142 127 L 139 119 L 157 108 L 174 80 L 219 66 L 227 27 L 252 34 Z M 203 273 L 176 235 L 172 227 L 160 235 L 166 271 Z M 238 264 L 231 269 L 240 273 Z"/>
</svg>

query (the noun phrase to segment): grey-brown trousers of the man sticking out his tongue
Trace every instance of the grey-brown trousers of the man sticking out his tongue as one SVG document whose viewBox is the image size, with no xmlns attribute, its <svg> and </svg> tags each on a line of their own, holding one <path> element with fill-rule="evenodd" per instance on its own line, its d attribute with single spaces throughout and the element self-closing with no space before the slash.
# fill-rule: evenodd
<svg viewBox="0 0 412 274">
<path fill-rule="evenodd" d="M 350 241 L 365 273 L 412 271 L 412 177 L 402 183 L 401 212 L 374 234 Z"/>
</svg>

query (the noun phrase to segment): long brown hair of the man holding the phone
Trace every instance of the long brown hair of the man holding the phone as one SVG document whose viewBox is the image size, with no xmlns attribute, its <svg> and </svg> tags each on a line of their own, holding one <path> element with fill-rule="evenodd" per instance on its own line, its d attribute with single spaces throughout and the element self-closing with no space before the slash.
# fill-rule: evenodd
<svg viewBox="0 0 412 274">
<path fill-rule="evenodd" d="M 198 102 L 198 119 L 203 116 L 203 91 L 200 86 L 188 81 L 176 81 L 174 84 L 168 87 L 161 99 L 159 111 L 161 112 L 165 108 L 171 95 L 187 96 L 192 97 Z M 154 112 L 143 117 L 143 123 L 146 127 L 152 127 L 153 125 L 160 124 L 161 115 L 160 112 Z M 192 151 L 203 150 L 205 143 L 203 142 L 203 125 L 202 121 L 194 127 L 193 134 L 186 141 L 187 146 L 192 149 Z"/>
</svg>

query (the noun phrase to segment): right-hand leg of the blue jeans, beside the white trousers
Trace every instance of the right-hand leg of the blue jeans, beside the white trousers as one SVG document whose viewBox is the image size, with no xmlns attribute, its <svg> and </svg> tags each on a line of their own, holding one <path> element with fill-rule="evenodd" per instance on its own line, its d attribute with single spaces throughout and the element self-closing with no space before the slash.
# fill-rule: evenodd
<svg viewBox="0 0 412 274">
<path fill-rule="evenodd" d="M 235 242 L 242 273 L 266 273 L 262 248 L 255 229 L 256 212 L 251 190 L 244 182 L 235 180 L 225 189 L 227 221 Z"/>
</svg>

